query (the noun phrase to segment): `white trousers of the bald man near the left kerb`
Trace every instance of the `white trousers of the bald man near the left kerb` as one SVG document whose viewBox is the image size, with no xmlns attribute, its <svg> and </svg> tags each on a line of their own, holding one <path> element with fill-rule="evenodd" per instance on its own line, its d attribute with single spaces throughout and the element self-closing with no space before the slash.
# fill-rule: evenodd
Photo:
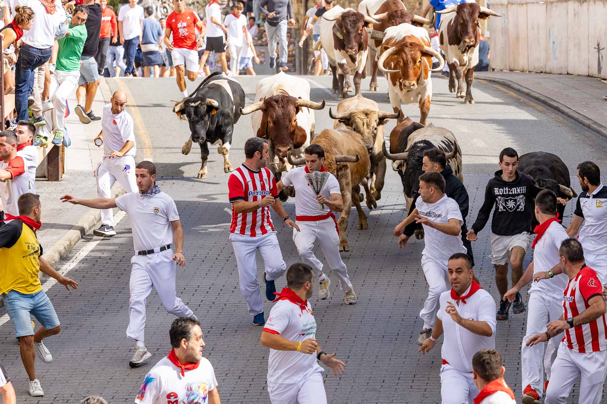
<svg viewBox="0 0 607 404">
<path fill-rule="evenodd" d="M 135 180 L 135 158 L 133 156 L 103 157 L 103 161 L 97 166 L 97 196 L 100 198 L 111 198 L 112 187 L 118 181 L 124 190 L 137 191 Z M 111 209 L 101 209 L 101 224 L 114 227 L 114 212 Z"/>
</svg>

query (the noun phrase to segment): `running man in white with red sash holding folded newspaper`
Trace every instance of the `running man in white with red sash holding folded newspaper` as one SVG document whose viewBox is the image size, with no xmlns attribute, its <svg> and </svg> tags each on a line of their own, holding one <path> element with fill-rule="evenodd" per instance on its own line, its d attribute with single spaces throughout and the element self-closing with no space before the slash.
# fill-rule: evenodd
<svg viewBox="0 0 607 404">
<path fill-rule="evenodd" d="M 339 230 L 337 230 L 337 220 L 333 214 L 333 211 L 341 212 L 344 209 L 339 182 L 322 166 L 325 161 L 325 151 L 320 145 L 311 144 L 305 148 L 304 157 L 306 161 L 304 167 L 296 167 L 288 171 L 276 184 L 279 192 L 284 187 L 291 185 L 295 188 L 295 221 L 299 225 L 299 231 L 293 229 L 293 242 L 302 260 L 313 268 L 314 274 L 319 278 L 318 298 L 320 300 L 328 299 L 331 280 L 322 273 L 322 262 L 312 251 L 316 240 L 319 241 L 329 266 L 339 278 L 339 288 L 345 294 L 344 301 L 353 305 L 356 303 L 356 293 L 350 283 L 345 263 L 339 254 Z M 318 196 L 305 177 L 305 174 L 316 171 L 328 174 L 327 182 Z M 324 205 L 324 208 L 321 208 L 320 204 Z"/>
</svg>

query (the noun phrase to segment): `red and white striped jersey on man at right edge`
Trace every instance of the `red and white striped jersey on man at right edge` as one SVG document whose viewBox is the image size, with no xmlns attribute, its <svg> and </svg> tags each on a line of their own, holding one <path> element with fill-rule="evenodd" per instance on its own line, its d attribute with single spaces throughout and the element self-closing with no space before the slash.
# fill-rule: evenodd
<svg viewBox="0 0 607 404">
<path fill-rule="evenodd" d="M 594 296 L 602 296 L 603 285 L 597 273 L 589 267 L 583 267 L 582 270 L 570 279 L 565 288 L 563 296 L 563 319 L 569 319 L 585 311 L 589 305 L 588 300 Z M 565 330 L 563 342 L 569 349 L 579 353 L 604 351 L 607 349 L 605 340 L 605 314 L 588 324 L 578 325 L 574 328 Z"/>
</svg>

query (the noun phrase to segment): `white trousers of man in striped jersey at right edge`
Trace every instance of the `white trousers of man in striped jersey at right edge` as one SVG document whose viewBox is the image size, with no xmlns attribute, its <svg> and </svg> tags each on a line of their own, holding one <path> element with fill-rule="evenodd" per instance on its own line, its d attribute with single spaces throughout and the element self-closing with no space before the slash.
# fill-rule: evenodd
<svg viewBox="0 0 607 404">
<path fill-rule="evenodd" d="M 575 403 L 599 404 L 607 376 L 607 351 L 580 354 L 558 346 L 557 359 L 552 364 L 552 377 L 546 390 L 546 404 L 565 404 L 575 380 L 580 380 L 580 397 Z"/>
</svg>

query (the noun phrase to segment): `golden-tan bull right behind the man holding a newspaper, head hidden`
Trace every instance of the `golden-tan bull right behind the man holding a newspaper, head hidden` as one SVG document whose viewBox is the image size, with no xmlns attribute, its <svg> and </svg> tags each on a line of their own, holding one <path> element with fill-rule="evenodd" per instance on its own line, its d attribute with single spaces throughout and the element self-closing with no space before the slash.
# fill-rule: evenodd
<svg viewBox="0 0 607 404">
<path fill-rule="evenodd" d="M 367 180 L 370 173 L 371 162 L 367 147 L 362 142 L 361 135 L 345 128 L 325 129 L 314 137 L 314 143 L 322 146 L 325 151 L 324 166 L 339 182 L 339 190 L 344 202 L 344 210 L 339 214 L 337 227 L 339 228 L 339 251 L 350 251 L 346 237 L 348 217 L 352 204 L 358 211 L 358 228 L 368 228 L 367 215 L 362 211 L 360 197 L 361 182 Z M 293 159 L 291 164 L 304 165 L 305 158 Z M 367 194 L 367 197 L 370 195 Z"/>
</svg>

